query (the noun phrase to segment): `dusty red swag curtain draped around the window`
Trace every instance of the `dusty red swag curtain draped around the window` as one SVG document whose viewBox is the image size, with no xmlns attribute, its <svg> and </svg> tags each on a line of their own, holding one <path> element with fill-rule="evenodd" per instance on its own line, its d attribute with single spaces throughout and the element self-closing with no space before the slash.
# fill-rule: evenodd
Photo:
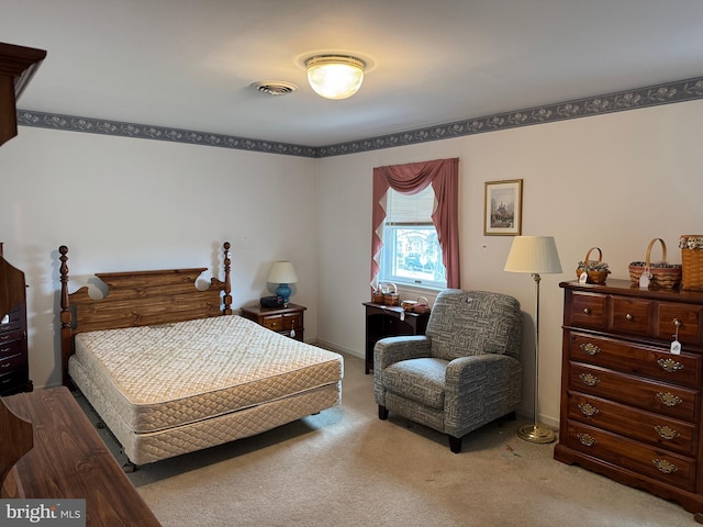
<svg viewBox="0 0 703 527">
<path fill-rule="evenodd" d="M 437 209 L 432 221 L 442 247 L 442 261 L 447 270 L 447 287 L 459 289 L 459 159 L 437 159 L 408 165 L 391 165 L 373 169 L 373 209 L 371 212 L 371 282 L 380 272 L 379 258 L 383 247 L 381 238 L 386 210 L 383 197 L 391 188 L 398 192 L 415 194 L 432 184 Z"/>
</svg>

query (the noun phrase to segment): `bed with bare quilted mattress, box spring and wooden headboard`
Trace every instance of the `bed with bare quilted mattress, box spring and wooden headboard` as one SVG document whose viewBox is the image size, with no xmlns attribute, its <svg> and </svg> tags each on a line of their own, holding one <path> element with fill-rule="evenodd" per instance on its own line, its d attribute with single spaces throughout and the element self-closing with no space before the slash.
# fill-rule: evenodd
<svg viewBox="0 0 703 527">
<path fill-rule="evenodd" d="M 108 288 L 68 292 L 60 254 L 64 384 L 77 388 L 135 466 L 253 436 L 342 401 L 343 357 L 232 313 L 207 268 L 96 273 Z"/>
</svg>

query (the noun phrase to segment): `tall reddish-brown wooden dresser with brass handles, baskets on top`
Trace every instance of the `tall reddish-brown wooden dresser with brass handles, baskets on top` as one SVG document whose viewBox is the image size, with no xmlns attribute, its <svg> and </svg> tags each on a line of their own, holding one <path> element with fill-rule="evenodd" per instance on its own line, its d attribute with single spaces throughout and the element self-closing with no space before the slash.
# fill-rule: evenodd
<svg viewBox="0 0 703 527">
<path fill-rule="evenodd" d="M 703 292 L 560 287 L 555 459 L 677 501 L 703 523 Z"/>
</svg>

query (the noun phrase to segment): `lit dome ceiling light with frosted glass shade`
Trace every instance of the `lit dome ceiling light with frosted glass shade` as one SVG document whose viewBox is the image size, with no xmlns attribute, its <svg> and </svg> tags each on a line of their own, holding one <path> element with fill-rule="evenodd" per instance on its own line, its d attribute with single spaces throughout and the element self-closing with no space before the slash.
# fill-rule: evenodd
<svg viewBox="0 0 703 527">
<path fill-rule="evenodd" d="M 305 60 L 308 81 L 325 99 L 346 99 L 356 93 L 364 81 L 366 64 L 345 55 L 319 55 Z"/>
</svg>

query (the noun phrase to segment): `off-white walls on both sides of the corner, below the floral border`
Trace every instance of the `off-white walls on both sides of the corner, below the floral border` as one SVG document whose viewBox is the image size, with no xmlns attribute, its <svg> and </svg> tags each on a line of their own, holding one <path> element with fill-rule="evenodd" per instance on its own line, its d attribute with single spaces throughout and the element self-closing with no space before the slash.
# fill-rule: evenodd
<svg viewBox="0 0 703 527">
<path fill-rule="evenodd" d="M 558 283 L 574 278 L 592 246 L 613 278 L 627 279 L 654 237 L 680 261 L 679 235 L 703 233 L 702 119 L 703 101 L 693 101 L 319 160 L 21 127 L 0 149 L 0 240 L 31 285 L 31 377 L 37 386 L 59 382 L 62 244 L 72 291 L 100 271 L 220 270 L 230 240 L 235 307 L 266 293 L 270 264 L 290 258 L 300 278 L 292 300 L 309 307 L 305 339 L 361 357 L 372 168 L 459 157 L 462 287 L 516 296 L 526 348 L 534 282 L 502 270 L 511 237 L 483 236 L 483 183 L 522 178 L 523 234 L 557 239 L 565 272 L 543 277 L 539 361 L 539 410 L 557 424 Z M 529 413 L 529 350 L 525 366 Z"/>
</svg>

